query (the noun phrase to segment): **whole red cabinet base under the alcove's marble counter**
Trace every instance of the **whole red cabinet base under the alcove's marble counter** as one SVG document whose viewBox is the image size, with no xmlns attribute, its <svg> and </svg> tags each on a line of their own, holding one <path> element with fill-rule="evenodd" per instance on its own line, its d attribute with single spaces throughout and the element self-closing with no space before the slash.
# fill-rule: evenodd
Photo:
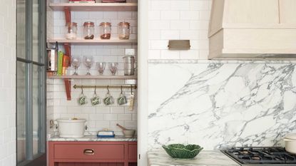
<svg viewBox="0 0 296 166">
<path fill-rule="evenodd" d="M 49 141 L 49 166 L 136 166 L 137 142 Z"/>
</svg>

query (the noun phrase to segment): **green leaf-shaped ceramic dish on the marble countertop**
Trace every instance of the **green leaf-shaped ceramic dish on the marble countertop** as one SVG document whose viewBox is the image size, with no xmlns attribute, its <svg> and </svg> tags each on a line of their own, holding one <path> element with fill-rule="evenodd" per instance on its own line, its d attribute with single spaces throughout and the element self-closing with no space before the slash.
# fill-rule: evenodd
<svg viewBox="0 0 296 166">
<path fill-rule="evenodd" d="M 170 157 L 192 159 L 203 150 L 203 147 L 200 147 L 200 145 L 170 144 L 168 146 L 163 145 L 163 149 L 168 155 L 170 155 Z"/>
</svg>

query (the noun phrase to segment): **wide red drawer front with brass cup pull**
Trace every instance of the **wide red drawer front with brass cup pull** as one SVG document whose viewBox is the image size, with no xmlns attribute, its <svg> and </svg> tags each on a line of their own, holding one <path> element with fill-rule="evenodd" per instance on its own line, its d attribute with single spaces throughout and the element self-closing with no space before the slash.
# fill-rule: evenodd
<svg viewBox="0 0 296 166">
<path fill-rule="evenodd" d="M 54 158 L 121 160 L 124 159 L 124 145 L 54 145 Z"/>
</svg>

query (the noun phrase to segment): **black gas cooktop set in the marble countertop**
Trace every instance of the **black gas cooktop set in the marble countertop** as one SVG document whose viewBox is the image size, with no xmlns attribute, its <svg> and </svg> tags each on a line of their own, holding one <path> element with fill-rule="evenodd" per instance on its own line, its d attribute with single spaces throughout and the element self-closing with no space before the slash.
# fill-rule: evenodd
<svg viewBox="0 0 296 166">
<path fill-rule="evenodd" d="M 296 165 L 296 155 L 286 152 L 283 147 L 233 147 L 221 151 L 243 166 Z"/>
</svg>

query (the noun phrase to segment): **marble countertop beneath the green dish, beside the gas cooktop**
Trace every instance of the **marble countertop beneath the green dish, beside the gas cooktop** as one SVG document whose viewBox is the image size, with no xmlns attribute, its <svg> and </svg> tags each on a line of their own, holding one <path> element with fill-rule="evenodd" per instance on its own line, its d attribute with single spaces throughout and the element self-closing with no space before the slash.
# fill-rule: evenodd
<svg viewBox="0 0 296 166">
<path fill-rule="evenodd" d="M 149 166 L 239 166 L 218 150 L 202 150 L 193 160 L 180 160 L 170 157 L 165 150 L 148 152 Z"/>
</svg>

